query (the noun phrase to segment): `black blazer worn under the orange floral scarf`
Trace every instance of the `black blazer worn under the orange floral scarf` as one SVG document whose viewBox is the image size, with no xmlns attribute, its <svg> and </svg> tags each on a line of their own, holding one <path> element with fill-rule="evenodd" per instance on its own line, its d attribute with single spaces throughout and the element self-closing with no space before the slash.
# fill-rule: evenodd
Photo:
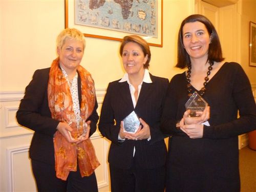
<svg viewBox="0 0 256 192">
<path fill-rule="evenodd" d="M 21 100 L 16 113 L 17 121 L 20 125 L 28 127 L 34 131 L 31 141 L 29 155 L 31 159 L 54 164 L 53 135 L 59 121 L 51 118 L 48 105 L 48 80 L 50 68 L 36 70 L 33 79 L 26 87 L 25 96 Z M 78 96 L 81 103 L 81 80 L 78 75 Z M 96 131 L 98 114 L 96 109 L 97 101 L 91 120 L 90 136 Z"/>
</svg>

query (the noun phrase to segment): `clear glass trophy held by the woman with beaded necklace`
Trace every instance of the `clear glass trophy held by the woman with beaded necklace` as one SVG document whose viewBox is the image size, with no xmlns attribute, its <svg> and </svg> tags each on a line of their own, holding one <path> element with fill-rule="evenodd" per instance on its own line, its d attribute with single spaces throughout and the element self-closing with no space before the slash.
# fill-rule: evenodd
<svg viewBox="0 0 256 192">
<path fill-rule="evenodd" d="M 203 112 L 208 103 L 196 91 L 185 103 L 186 110 L 190 110 L 189 117 L 197 117 L 196 112 Z"/>
</svg>

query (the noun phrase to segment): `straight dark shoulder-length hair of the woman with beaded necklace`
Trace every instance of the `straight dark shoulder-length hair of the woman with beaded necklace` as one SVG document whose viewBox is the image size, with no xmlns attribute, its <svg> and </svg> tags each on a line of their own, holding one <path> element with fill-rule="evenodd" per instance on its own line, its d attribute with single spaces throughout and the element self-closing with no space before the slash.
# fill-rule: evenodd
<svg viewBox="0 0 256 192">
<path fill-rule="evenodd" d="M 209 44 L 209 50 L 208 50 L 208 60 L 210 63 L 214 63 L 214 61 L 220 62 L 223 61 L 224 58 L 222 57 L 222 50 L 221 50 L 221 44 L 220 39 L 217 34 L 217 31 L 210 22 L 210 20 L 200 14 L 194 14 L 186 17 L 179 29 L 179 36 L 178 36 L 178 62 L 176 67 L 178 68 L 186 68 L 190 64 L 190 58 L 188 53 L 186 52 L 184 46 L 183 46 L 183 27 L 186 23 L 194 23 L 194 22 L 200 22 L 205 25 L 209 35 L 211 36 L 211 41 Z"/>
</svg>

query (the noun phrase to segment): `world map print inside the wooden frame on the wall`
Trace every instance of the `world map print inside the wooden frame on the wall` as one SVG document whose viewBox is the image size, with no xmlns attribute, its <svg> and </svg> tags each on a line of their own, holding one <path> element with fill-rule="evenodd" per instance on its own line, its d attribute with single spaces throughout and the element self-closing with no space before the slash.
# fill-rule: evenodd
<svg viewBox="0 0 256 192">
<path fill-rule="evenodd" d="M 75 24 L 157 37 L 157 0 L 78 0 Z"/>
</svg>

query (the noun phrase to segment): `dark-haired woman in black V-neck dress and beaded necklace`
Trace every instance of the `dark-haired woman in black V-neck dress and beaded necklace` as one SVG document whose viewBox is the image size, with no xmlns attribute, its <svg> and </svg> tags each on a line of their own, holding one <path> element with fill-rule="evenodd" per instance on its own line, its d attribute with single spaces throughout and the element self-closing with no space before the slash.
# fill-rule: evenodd
<svg viewBox="0 0 256 192">
<path fill-rule="evenodd" d="M 171 136 L 166 192 L 240 191 L 238 135 L 256 125 L 248 77 L 238 63 L 224 62 L 215 27 L 199 14 L 180 26 L 176 67 L 187 71 L 170 81 L 161 119 Z M 191 117 L 185 103 L 194 92 L 210 109 Z"/>
</svg>

